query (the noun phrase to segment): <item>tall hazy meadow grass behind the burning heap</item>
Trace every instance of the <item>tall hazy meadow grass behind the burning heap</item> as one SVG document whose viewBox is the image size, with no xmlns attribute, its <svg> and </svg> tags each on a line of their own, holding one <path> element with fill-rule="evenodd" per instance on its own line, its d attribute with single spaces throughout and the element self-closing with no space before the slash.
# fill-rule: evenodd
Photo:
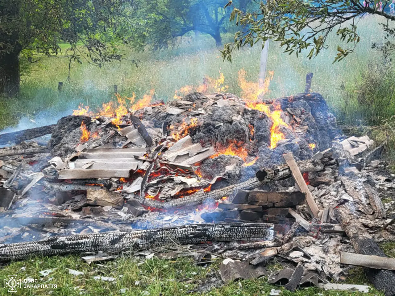
<svg viewBox="0 0 395 296">
<path fill-rule="evenodd" d="M 378 124 L 382 117 L 394 114 L 393 79 L 395 69 L 384 66 L 382 54 L 371 49 L 372 42 L 381 42 L 380 17 L 370 16 L 358 24 L 361 42 L 355 52 L 340 63 L 332 64 L 339 37 L 331 34 L 329 48 L 316 58 L 284 54 L 278 43 L 269 47 L 267 69 L 274 71 L 267 96 L 279 97 L 303 91 L 305 75 L 314 73 L 312 90 L 323 94 L 339 120 L 347 124 Z M 231 35 L 224 36 L 231 40 Z M 155 89 L 157 99 L 171 99 L 175 90 L 184 85 L 198 85 L 203 77 L 225 76 L 228 92 L 240 94 L 238 71 L 244 68 L 247 79 L 256 81 L 260 67 L 260 46 L 245 48 L 233 54 L 233 62 L 222 62 L 214 40 L 206 35 L 184 37 L 177 47 L 160 52 L 134 52 L 124 48 L 125 59 L 103 68 L 84 62 L 71 64 L 68 59 L 43 57 L 22 76 L 21 94 L 17 98 L 0 98 L 0 127 L 17 122 L 20 116 L 34 118 L 51 109 L 53 116 L 71 113 L 81 102 L 96 107 L 113 96 L 113 85 L 121 95 L 137 97 Z M 136 67 L 134 62 L 138 61 Z M 57 92 L 58 82 L 66 82 L 64 91 Z"/>
</svg>

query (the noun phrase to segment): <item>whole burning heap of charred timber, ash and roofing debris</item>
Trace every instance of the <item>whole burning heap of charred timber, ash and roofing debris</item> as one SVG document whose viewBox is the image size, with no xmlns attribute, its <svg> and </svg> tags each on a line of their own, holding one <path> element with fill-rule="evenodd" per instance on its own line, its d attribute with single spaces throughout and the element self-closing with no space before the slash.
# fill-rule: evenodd
<svg viewBox="0 0 395 296">
<path fill-rule="evenodd" d="M 18 143 L 0 151 L 1 261 L 154 249 L 223 260 L 223 281 L 266 275 L 289 290 L 329 289 L 356 265 L 395 294 L 377 244 L 395 240 L 384 144 L 344 137 L 320 94 L 120 103 L 0 135 Z M 274 258 L 284 270 L 271 274 Z"/>
</svg>

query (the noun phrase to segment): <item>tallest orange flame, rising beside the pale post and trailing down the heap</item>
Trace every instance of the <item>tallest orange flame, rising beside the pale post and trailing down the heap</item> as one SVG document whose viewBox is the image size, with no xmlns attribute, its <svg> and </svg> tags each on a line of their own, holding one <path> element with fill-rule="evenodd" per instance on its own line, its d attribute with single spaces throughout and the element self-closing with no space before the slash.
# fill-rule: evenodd
<svg viewBox="0 0 395 296">
<path fill-rule="evenodd" d="M 270 146 L 269 148 L 274 149 L 277 147 L 278 141 L 285 139 L 285 135 L 280 131 L 281 126 L 289 128 L 281 118 L 281 106 L 276 105 L 275 110 L 270 110 L 270 105 L 265 103 L 259 103 L 261 96 L 269 91 L 270 81 L 273 79 L 274 72 L 269 71 L 268 77 L 262 82 L 248 82 L 246 81 L 246 71 L 241 69 L 239 71 L 239 85 L 242 91 L 242 97 L 244 98 L 246 105 L 250 109 L 255 109 L 265 113 L 273 122 L 270 128 Z"/>
</svg>

